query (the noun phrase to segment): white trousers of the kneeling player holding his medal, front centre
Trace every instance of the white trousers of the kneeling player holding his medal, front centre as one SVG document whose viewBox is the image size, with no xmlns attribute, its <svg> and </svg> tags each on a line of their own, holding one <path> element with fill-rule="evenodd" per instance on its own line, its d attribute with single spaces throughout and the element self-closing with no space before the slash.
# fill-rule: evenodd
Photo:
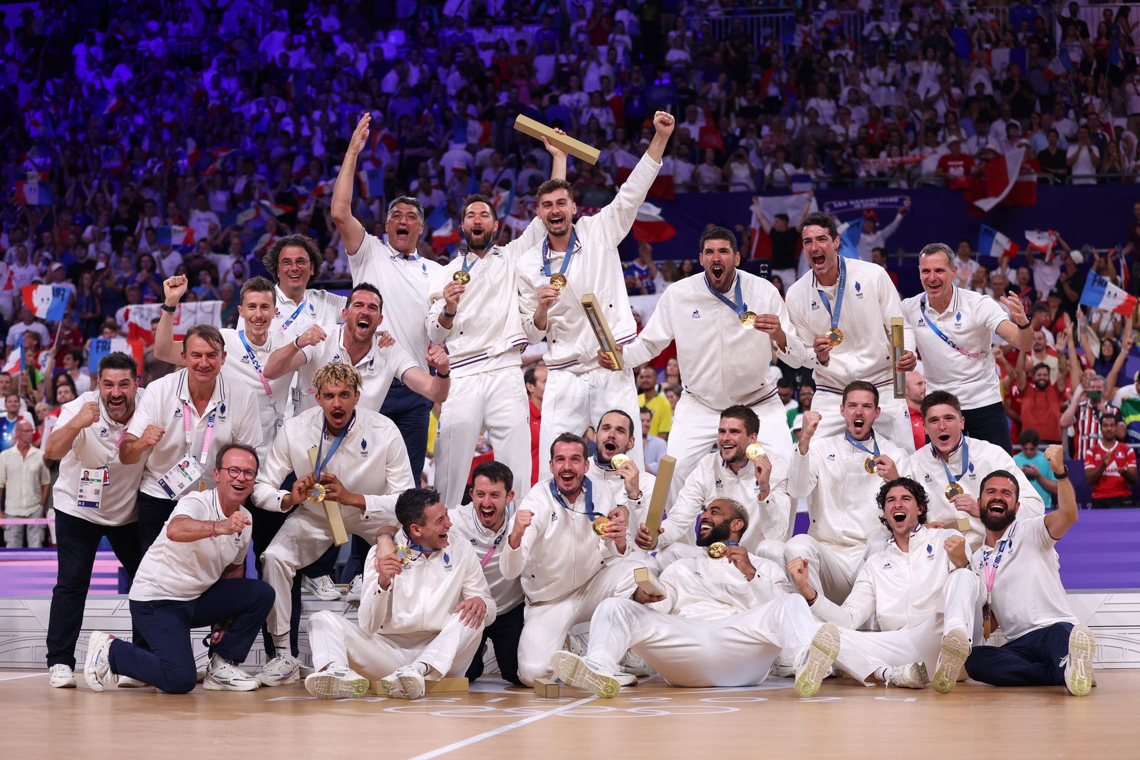
<svg viewBox="0 0 1140 760">
<path fill-rule="evenodd" d="M 546 387 L 549 389 L 549 385 Z M 544 410 L 544 419 L 545 416 Z M 633 594 L 636 588 L 634 570 L 644 565 L 635 559 L 618 559 L 556 602 L 528 603 L 522 636 L 519 638 L 519 680 L 534 686 L 536 678 L 549 678 L 551 655 L 563 648 L 570 629 L 578 623 L 589 622 L 594 610 L 604 599 Z M 593 634 L 591 637 L 593 638 Z"/>
</svg>

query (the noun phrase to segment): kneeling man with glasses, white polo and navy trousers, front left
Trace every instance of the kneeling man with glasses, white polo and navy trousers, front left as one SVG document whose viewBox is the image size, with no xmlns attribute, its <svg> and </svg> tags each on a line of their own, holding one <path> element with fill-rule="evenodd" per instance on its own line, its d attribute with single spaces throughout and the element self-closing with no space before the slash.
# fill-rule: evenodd
<svg viewBox="0 0 1140 760">
<path fill-rule="evenodd" d="M 239 667 L 274 604 L 268 583 L 245 578 L 251 520 L 242 504 L 253 490 L 258 464 L 252 448 L 225 446 L 214 461 L 218 488 L 178 500 L 131 586 L 131 619 L 150 649 L 93 631 L 83 673 L 93 690 L 127 676 L 170 694 L 192 692 L 197 668 L 190 629 L 203 626 L 214 627 L 204 686 L 258 688 Z"/>
</svg>

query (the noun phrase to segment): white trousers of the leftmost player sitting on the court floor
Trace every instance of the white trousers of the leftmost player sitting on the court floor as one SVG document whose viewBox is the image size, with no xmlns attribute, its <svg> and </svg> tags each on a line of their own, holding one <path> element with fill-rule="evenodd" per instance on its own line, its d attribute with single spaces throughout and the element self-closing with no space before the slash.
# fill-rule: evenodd
<svg viewBox="0 0 1140 760">
<path fill-rule="evenodd" d="M 441 631 L 368 634 L 358 624 L 324 610 L 309 619 L 309 646 L 317 670 L 333 662 L 348 664 L 368 680 L 380 680 L 397 668 L 423 662 L 432 668 L 425 678 L 459 678 L 479 651 L 483 627 L 470 628 L 453 614 Z"/>
</svg>

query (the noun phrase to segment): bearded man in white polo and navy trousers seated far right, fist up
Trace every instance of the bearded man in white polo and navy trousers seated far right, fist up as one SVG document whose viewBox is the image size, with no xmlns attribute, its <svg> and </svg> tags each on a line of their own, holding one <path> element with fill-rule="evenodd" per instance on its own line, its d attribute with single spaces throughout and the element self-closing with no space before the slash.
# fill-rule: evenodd
<svg viewBox="0 0 1140 760">
<path fill-rule="evenodd" d="M 993 686 L 1060 686 L 1084 696 L 1097 643 L 1080 624 L 1057 569 L 1057 541 L 1076 523 L 1076 495 L 1059 446 L 1045 450 L 1057 476 L 1057 509 L 1018 516 L 1020 482 L 994 471 L 982 482 L 985 544 L 974 553 L 982 581 L 984 646 L 966 660 L 970 678 Z"/>
</svg>

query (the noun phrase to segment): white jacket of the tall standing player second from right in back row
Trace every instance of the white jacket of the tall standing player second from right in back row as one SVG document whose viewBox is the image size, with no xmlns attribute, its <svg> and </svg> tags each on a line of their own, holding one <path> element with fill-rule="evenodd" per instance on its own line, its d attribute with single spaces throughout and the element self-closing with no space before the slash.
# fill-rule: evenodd
<svg viewBox="0 0 1140 760">
<path fill-rule="evenodd" d="M 836 393 L 842 393 L 844 387 L 856 379 L 873 385 L 894 381 L 890 319 L 903 316 L 903 302 L 887 270 L 857 259 L 841 261 L 847 267 L 844 302 L 839 310 L 839 329 L 844 340 L 831 348 L 825 366 L 819 362 L 812 348 L 816 335 L 824 335 L 831 329 L 831 313 L 820 297 L 820 291 L 828 296 L 833 311 L 839 281 L 824 287 L 816 280 L 815 273 L 809 272 L 788 288 L 787 296 L 788 316 L 807 348 L 804 366 L 812 368 L 817 389 Z M 903 346 L 914 351 L 914 330 L 905 322 Z"/>
</svg>

